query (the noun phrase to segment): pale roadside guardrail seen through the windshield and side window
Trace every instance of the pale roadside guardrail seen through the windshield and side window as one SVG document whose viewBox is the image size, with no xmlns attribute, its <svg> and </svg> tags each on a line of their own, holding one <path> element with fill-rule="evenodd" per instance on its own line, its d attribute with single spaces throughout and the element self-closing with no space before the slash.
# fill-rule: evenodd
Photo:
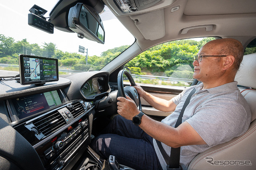
<svg viewBox="0 0 256 170">
<path fill-rule="evenodd" d="M 9 65 L 9 64 L 0 64 L 0 66 L 2 67 L 8 67 L 8 66 L 12 66 L 12 67 L 19 67 L 17 65 Z M 62 69 L 59 68 L 59 71 L 61 72 L 68 72 L 68 73 L 80 73 L 83 71 L 79 71 L 79 70 L 68 70 L 68 69 Z M 163 81 L 173 81 L 173 82 L 188 82 L 188 83 L 192 83 L 193 80 L 189 79 L 189 78 L 173 78 L 173 77 L 164 77 L 164 76 L 148 76 L 148 75 L 137 75 L 137 74 L 132 74 L 133 78 L 142 78 L 142 79 L 151 79 L 151 80 L 163 80 Z"/>
</svg>

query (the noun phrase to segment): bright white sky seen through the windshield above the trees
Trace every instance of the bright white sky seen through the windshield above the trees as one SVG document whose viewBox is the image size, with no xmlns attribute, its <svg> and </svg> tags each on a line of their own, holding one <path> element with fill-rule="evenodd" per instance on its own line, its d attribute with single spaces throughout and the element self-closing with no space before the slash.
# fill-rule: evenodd
<svg viewBox="0 0 256 170">
<path fill-rule="evenodd" d="M 76 33 L 67 33 L 56 28 L 54 28 L 54 34 L 43 32 L 28 25 L 29 9 L 34 4 L 48 10 L 44 15 L 48 17 L 53 6 L 56 4 L 56 1 L 2 0 L 0 2 L 0 34 L 12 37 L 15 41 L 21 41 L 26 38 L 30 44 L 37 43 L 39 46 L 43 46 L 44 42 L 53 42 L 56 44 L 57 49 L 62 50 L 63 52 L 78 53 L 78 47 L 80 45 L 88 48 L 89 56 L 100 56 L 102 52 L 108 49 L 122 45 L 131 45 L 135 40 L 130 32 L 128 32 L 115 17 L 110 17 L 110 20 L 103 19 L 106 34 L 105 44 L 99 44 L 87 40 L 86 38 L 81 39 L 77 37 Z M 120 31 L 120 33 L 118 33 L 118 31 Z"/>
</svg>

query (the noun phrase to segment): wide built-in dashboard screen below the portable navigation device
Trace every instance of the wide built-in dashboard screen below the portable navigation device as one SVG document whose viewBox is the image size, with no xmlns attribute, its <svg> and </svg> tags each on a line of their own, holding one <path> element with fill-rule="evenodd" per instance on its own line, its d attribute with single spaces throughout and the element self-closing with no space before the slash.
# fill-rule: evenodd
<svg viewBox="0 0 256 170">
<path fill-rule="evenodd" d="M 20 119 L 62 104 L 57 90 L 12 99 Z"/>
</svg>

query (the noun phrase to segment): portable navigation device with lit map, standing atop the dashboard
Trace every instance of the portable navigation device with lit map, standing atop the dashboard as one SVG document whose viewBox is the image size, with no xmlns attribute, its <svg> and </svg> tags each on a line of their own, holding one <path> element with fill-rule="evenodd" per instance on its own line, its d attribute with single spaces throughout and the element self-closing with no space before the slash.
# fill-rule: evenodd
<svg viewBox="0 0 256 170">
<path fill-rule="evenodd" d="M 59 80 L 58 59 L 19 55 L 20 84 L 38 84 Z"/>
</svg>

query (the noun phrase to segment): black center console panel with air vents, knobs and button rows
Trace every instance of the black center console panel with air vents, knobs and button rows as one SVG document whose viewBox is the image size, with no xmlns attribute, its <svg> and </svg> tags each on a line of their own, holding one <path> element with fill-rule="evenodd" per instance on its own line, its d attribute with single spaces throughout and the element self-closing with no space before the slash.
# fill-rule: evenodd
<svg viewBox="0 0 256 170">
<path fill-rule="evenodd" d="M 94 106 L 73 100 L 13 127 L 34 147 L 46 170 L 62 170 L 90 143 Z"/>
</svg>

